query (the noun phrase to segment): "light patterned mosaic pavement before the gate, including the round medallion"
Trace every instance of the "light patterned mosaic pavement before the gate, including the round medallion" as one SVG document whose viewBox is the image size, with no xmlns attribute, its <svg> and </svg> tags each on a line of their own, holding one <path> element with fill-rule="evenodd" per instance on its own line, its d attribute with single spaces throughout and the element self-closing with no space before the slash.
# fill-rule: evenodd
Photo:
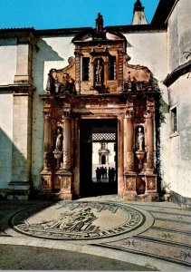
<svg viewBox="0 0 191 272">
<path fill-rule="evenodd" d="M 183 271 L 191 268 L 190 237 L 191 212 L 171 202 L 124 202 L 116 196 L 0 202 L 2 245 L 64 249 L 140 269 Z"/>
</svg>

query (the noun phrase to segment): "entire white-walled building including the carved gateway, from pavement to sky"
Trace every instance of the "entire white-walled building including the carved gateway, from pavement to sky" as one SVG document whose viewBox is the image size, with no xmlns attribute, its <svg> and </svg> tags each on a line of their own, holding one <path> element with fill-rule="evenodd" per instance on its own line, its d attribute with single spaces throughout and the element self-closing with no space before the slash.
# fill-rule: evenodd
<svg viewBox="0 0 191 272">
<path fill-rule="evenodd" d="M 139 0 L 131 25 L 95 23 L 0 29 L 1 198 L 88 195 L 105 133 L 119 198 L 190 208 L 191 1 L 160 0 L 151 24 Z"/>
</svg>

